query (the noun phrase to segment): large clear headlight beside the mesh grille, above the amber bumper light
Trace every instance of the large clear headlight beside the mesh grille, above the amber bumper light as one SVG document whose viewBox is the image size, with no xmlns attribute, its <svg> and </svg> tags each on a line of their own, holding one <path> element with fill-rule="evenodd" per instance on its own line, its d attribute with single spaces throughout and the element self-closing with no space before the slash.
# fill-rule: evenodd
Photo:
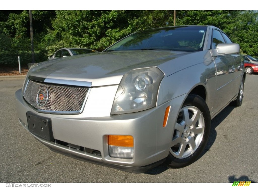
<svg viewBox="0 0 258 193">
<path fill-rule="evenodd" d="M 111 115 L 143 111 L 155 107 L 164 73 L 157 67 L 126 73 L 116 92 Z"/>
</svg>

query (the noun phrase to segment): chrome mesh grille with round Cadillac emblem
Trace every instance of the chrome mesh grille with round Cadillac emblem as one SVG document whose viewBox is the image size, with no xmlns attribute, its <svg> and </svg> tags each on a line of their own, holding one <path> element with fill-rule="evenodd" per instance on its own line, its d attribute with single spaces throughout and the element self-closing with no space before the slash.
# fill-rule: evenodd
<svg viewBox="0 0 258 193">
<path fill-rule="evenodd" d="M 81 112 L 88 89 L 88 87 L 66 86 L 30 80 L 23 97 L 37 110 L 55 113 L 71 112 L 74 114 Z M 42 101 L 39 100 L 41 96 Z"/>
</svg>

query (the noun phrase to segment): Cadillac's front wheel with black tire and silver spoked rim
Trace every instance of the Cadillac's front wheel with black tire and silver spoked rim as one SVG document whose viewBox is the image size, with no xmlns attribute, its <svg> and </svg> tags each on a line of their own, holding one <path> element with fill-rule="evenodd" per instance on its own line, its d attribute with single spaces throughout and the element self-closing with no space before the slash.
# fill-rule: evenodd
<svg viewBox="0 0 258 193">
<path fill-rule="evenodd" d="M 182 168 L 193 163 L 203 152 L 209 138 L 211 115 L 205 101 L 190 94 L 179 112 L 167 164 Z"/>
</svg>

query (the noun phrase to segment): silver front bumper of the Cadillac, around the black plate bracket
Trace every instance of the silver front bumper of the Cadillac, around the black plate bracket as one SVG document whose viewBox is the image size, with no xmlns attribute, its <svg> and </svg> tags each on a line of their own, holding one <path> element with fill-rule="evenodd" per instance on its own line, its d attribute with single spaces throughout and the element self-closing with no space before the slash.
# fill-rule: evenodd
<svg viewBox="0 0 258 193">
<path fill-rule="evenodd" d="M 169 153 L 173 127 L 180 101 L 173 99 L 149 110 L 108 117 L 82 117 L 39 113 L 23 99 L 21 90 L 15 93 L 19 121 L 28 130 L 26 112 L 50 118 L 54 141 L 49 142 L 33 135 L 55 152 L 87 162 L 106 165 L 119 170 L 141 173 L 161 164 Z M 174 104 L 174 105 L 173 105 Z M 168 124 L 163 128 L 164 112 L 172 105 Z M 176 112 L 176 113 L 174 113 Z M 134 138 L 133 159 L 109 156 L 108 135 L 131 135 Z M 79 148 L 74 148 L 77 146 Z"/>
</svg>

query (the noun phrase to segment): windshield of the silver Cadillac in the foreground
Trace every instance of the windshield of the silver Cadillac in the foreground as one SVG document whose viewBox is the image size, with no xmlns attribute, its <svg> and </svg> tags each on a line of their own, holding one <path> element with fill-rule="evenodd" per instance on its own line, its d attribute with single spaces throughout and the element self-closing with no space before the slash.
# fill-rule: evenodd
<svg viewBox="0 0 258 193">
<path fill-rule="evenodd" d="M 184 26 L 157 28 L 136 32 L 105 51 L 118 50 L 203 50 L 207 27 Z"/>
</svg>

